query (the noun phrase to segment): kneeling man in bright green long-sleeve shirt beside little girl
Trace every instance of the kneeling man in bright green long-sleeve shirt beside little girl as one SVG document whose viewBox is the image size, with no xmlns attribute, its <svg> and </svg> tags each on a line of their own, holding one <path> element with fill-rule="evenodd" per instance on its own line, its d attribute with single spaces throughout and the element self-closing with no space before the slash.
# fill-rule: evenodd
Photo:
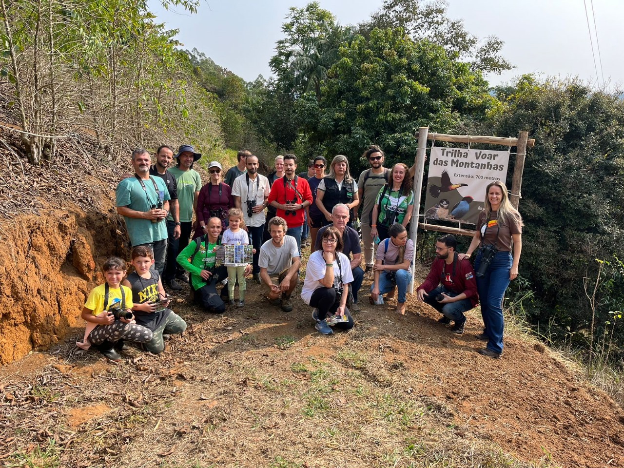
<svg viewBox="0 0 624 468">
<path fill-rule="evenodd" d="M 217 254 L 214 250 L 220 243 L 221 220 L 212 217 L 208 220 L 207 226 L 207 235 L 198 237 L 188 244 L 178 255 L 177 261 L 178 265 L 191 275 L 190 285 L 195 290 L 195 303 L 202 306 L 206 312 L 221 314 L 225 312 L 225 303 L 217 294 L 217 285 L 228 277 L 225 265 L 215 268 Z M 198 249 L 197 242 L 200 243 Z M 251 265 L 247 265 L 245 276 L 250 273 Z M 227 297 L 227 290 L 225 296 Z"/>
</svg>

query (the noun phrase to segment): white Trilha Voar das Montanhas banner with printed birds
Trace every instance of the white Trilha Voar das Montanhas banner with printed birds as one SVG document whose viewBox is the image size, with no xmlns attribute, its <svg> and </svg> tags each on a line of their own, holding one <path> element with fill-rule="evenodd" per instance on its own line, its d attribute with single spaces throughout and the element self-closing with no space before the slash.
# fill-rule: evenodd
<svg viewBox="0 0 624 468">
<path fill-rule="evenodd" d="M 507 178 L 509 151 L 432 148 L 427 179 L 425 222 L 476 224 L 484 209 L 485 188 Z"/>
</svg>

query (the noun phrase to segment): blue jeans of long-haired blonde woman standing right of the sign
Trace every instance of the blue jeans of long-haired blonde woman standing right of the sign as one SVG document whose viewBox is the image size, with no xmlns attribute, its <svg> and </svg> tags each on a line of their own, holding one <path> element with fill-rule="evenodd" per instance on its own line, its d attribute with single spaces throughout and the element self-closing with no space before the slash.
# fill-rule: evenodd
<svg viewBox="0 0 624 468">
<path fill-rule="evenodd" d="M 479 270 L 481 252 L 474 261 L 474 270 Z M 509 286 L 509 270 L 511 270 L 511 252 L 497 252 L 485 276 L 477 276 L 477 291 L 481 303 L 481 316 L 485 326 L 484 333 L 489 338 L 487 349 L 495 353 L 503 352 L 503 299 Z"/>
</svg>

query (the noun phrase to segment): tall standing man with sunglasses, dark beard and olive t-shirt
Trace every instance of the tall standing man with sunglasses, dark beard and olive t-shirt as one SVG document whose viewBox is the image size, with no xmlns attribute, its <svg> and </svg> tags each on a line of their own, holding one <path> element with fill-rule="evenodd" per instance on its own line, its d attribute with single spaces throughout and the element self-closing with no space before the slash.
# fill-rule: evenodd
<svg viewBox="0 0 624 468">
<path fill-rule="evenodd" d="M 373 272 L 375 247 L 371 238 L 371 214 L 375 207 L 375 199 L 379 189 L 390 179 L 390 169 L 384 167 L 386 155 L 377 145 L 371 145 L 364 151 L 364 158 L 371 165 L 359 175 L 358 194 L 362 205 L 362 214 L 359 217 L 362 227 L 362 241 L 364 243 L 364 261 L 366 270 L 364 273 Z"/>
</svg>

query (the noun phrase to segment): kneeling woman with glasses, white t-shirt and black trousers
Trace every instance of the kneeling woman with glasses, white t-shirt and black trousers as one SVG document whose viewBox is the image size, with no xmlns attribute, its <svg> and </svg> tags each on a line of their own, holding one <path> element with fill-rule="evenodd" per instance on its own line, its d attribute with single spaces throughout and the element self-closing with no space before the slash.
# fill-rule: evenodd
<svg viewBox="0 0 624 468">
<path fill-rule="evenodd" d="M 323 250 L 308 259 L 301 299 L 314 308 L 312 318 L 322 334 L 332 334 L 335 328 L 353 328 L 353 318 L 346 307 L 349 283 L 353 281 L 351 263 L 343 250 L 343 238 L 338 229 L 328 227 L 321 240 Z"/>
</svg>

